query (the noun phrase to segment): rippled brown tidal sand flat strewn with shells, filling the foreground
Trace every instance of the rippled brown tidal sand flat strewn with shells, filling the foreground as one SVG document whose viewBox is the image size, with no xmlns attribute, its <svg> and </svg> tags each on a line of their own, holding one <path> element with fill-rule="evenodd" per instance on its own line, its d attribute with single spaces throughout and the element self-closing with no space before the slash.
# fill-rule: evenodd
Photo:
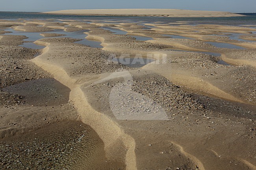
<svg viewBox="0 0 256 170">
<path fill-rule="evenodd" d="M 25 22 L 25 32 L 30 31 L 30 24 L 51 29 L 59 25 L 41 21 L 26 26 Z M 215 35 L 249 36 L 254 29 L 152 23 L 148 25 L 154 27 L 145 31 L 146 26 L 137 23 L 111 26 L 103 21 L 67 20 L 64 24 L 61 27 L 66 31 L 68 27 L 71 31 L 89 29 L 86 39 L 100 41 L 103 48 L 74 43 L 80 39 L 54 37 L 35 41 L 46 47 L 34 50 L 19 47 L 22 36 L 1 35 L 2 63 L 10 70 L 2 69 L 1 77 L 0 149 L 10 153 L 9 158 L 1 155 L 4 167 L 255 169 L 255 42 Z M 102 26 L 121 29 L 127 35 Z M 136 40 L 132 35 L 152 40 Z M 218 48 L 209 41 L 245 49 Z M 221 57 L 200 51 L 220 53 Z M 40 55 L 35 57 L 36 53 Z M 124 54 L 154 60 L 139 68 L 112 60 L 120 60 Z M 230 65 L 219 64 L 220 59 Z M 42 143 L 51 149 L 32 155 Z M 6 144 L 9 146 L 4 147 Z M 26 147 L 34 149 L 30 152 Z M 23 155 L 28 153 L 31 156 L 26 160 Z M 41 153 L 54 156 L 42 157 Z"/>
</svg>

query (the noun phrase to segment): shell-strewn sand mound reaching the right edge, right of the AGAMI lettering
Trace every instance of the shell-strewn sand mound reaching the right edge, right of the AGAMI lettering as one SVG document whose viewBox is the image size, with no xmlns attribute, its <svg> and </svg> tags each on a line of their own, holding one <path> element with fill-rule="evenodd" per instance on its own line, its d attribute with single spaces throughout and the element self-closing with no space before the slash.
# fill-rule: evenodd
<svg viewBox="0 0 256 170">
<path fill-rule="evenodd" d="M 225 66 L 217 63 L 218 58 L 202 53 L 185 53 L 184 55 L 167 58 L 167 63 L 174 67 L 182 67 L 193 75 L 202 75 L 216 87 L 227 91 L 239 99 L 256 102 L 256 70 L 252 66 Z M 212 81 L 212 78 L 215 81 Z"/>
</svg>

